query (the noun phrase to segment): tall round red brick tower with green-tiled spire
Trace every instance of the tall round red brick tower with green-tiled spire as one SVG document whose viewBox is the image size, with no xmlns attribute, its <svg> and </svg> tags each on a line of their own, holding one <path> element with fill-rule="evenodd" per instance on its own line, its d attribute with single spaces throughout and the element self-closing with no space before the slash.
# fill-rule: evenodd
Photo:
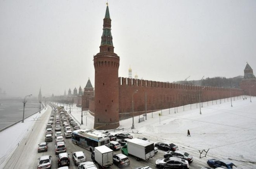
<svg viewBox="0 0 256 169">
<path fill-rule="evenodd" d="M 119 60 L 119 56 L 114 53 L 111 19 L 107 4 L 100 52 L 93 57 L 95 69 L 94 129 L 114 129 L 119 126 Z"/>
</svg>

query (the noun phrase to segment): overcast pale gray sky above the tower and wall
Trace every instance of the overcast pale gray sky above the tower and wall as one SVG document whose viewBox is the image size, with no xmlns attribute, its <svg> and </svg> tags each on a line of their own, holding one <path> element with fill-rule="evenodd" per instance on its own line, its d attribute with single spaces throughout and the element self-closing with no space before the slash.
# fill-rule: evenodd
<svg viewBox="0 0 256 169">
<path fill-rule="evenodd" d="M 109 0 L 119 77 L 173 82 L 256 71 L 256 0 Z M 1 0 L 0 88 L 63 95 L 94 86 L 105 0 Z"/>
</svg>

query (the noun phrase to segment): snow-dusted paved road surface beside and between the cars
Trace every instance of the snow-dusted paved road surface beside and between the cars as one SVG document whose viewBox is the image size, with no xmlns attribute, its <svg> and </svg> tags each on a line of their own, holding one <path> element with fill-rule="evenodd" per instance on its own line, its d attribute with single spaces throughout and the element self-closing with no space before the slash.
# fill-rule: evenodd
<svg viewBox="0 0 256 169">
<path fill-rule="evenodd" d="M 22 140 L 19 147 L 15 150 L 12 157 L 7 162 L 4 168 L 6 169 L 36 169 L 38 158 L 42 155 L 52 155 L 52 169 L 57 169 L 57 157 L 55 155 L 55 141 L 53 140 L 48 144 L 48 151 L 47 152 L 37 152 L 37 147 L 40 142 L 44 141 L 45 136 L 45 127 L 50 118 L 50 114 L 52 112 L 52 108 L 48 106 L 47 111 L 36 121 L 33 130 L 28 133 L 28 135 Z M 53 127 L 55 124 L 52 125 Z M 62 134 L 64 135 L 64 129 L 62 127 Z M 133 135 L 136 137 L 136 134 Z M 71 142 L 71 139 L 65 139 L 67 153 L 69 153 L 70 158 L 70 169 L 77 169 L 77 166 L 74 165 L 72 160 L 72 153 L 76 151 L 83 151 L 86 155 L 87 161 L 92 161 L 91 153 L 88 150 L 85 150 Z M 115 153 L 121 153 L 121 151 L 116 151 Z M 137 161 L 133 157 L 129 157 L 130 159 L 130 166 L 127 167 L 128 169 L 135 169 L 136 167 L 140 166 L 150 166 L 152 168 L 155 167 L 155 161 L 157 159 L 163 158 L 163 151 L 159 150 L 159 152 L 150 160 L 147 161 Z M 200 169 L 202 166 L 207 166 L 206 160 L 202 160 L 196 158 L 194 162 L 190 164 L 190 169 Z M 117 166 L 113 165 L 110 167 L 112 169 L 118 169 Z"/>
</svg>

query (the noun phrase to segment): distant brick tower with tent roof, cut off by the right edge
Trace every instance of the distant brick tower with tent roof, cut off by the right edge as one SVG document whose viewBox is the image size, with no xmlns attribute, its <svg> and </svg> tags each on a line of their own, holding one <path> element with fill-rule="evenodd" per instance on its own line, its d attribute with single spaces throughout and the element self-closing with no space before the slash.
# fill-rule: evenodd
<svg viewBox="0 0 256 169">
<path fill-rule="evenodd" d="M 256 78 L 253 74 L 253 69 L 247 62 L 244 68 L 244 79 L 240 83 L 240 88 L 244 90 L 246 95 L 256 96 Z"/>
</svg>

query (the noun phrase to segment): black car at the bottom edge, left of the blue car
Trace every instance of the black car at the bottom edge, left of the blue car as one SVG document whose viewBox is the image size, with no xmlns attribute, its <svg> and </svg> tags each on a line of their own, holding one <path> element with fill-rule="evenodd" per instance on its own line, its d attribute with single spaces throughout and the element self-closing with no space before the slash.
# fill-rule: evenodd
<svg viewBox="0 0 256 169">
<path fill-rule="evenodd" d="M 160 169 L 189 169 L 189 162 L 178 157 L 168 157 L 156 160 L 156 167 Z"/>
</svg>

